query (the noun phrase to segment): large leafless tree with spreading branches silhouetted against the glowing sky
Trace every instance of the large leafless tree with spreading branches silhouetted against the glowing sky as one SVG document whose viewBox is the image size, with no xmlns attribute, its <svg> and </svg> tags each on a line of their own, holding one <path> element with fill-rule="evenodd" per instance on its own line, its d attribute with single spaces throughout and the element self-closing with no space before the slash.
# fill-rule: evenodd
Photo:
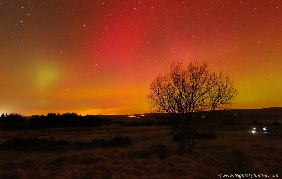
<svg viewBox="0 0 282 179">
<path fill-rule="evenodd" d="M 146 96 L 151 112 L 165 114 L 175 127 L 179 150 L 191 153 L 199 142 L 196 131 L 215 110 L 233 106 L 238 94 L 230 73 L 209 71 L 206 61 L 194 59 L 184 65 L 179 59 L 170 64 L 170 71 L 150 83 Z"/>
</svg>

